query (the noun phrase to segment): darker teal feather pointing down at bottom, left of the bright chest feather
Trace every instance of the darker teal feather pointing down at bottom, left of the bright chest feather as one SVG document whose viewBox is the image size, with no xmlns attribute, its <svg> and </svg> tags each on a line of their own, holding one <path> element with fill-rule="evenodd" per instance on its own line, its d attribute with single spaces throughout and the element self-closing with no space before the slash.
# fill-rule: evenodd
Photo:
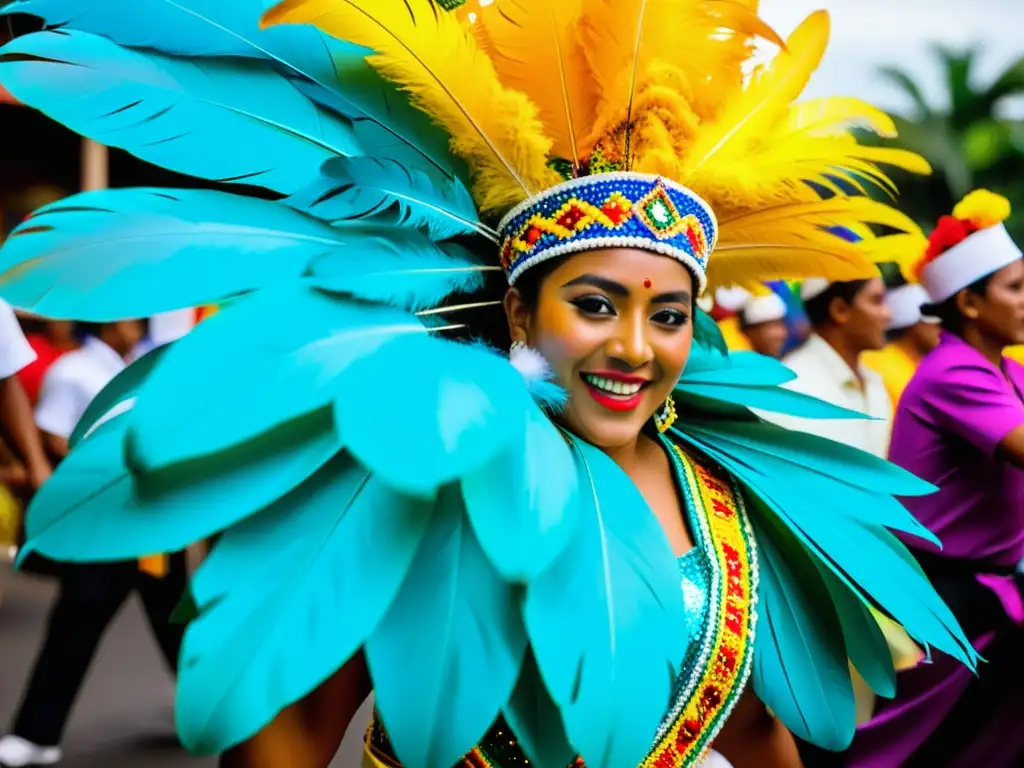
<svg viewBox="0 0 1024 768">
<path fill-rule="evenodd" d="M 366 649 L 377 711 L 403 765 L 451 768 L 512 695 L 526 651 L 519 600 L 477 544 L 458 488 L 438 495 Z"/>
</svg>

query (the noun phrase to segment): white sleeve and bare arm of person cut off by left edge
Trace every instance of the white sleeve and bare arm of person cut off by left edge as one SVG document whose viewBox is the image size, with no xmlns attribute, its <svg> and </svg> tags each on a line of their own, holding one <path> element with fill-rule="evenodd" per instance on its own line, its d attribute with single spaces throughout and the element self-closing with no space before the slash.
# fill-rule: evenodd
<svg viewBox="0 0 1024 768">
<path fill-rule="evenodd" d="M 22 333 L 14 310 L 0 300 L 0 430 L 8 446 L 25 463 L 34 489 L 50 476 L 50 464 L 32 419 L 29 396 L 14 374 L 35 359 L 36 353 Z"/>
</svg>

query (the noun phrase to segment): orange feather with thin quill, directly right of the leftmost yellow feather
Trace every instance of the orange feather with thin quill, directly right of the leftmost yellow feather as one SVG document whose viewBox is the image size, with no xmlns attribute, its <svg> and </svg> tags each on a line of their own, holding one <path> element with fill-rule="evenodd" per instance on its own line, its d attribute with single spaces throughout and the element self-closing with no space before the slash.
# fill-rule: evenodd
<svg viewBox="0 0 1024 768">
<path fill-rule="evenodd" d="M 481 9 L 502 82 L 540 109 L 554 154 L 580 163 L 597 109 L 590 69 L 577 36 L 584 0 L 497 0 Z"/>
</svg>

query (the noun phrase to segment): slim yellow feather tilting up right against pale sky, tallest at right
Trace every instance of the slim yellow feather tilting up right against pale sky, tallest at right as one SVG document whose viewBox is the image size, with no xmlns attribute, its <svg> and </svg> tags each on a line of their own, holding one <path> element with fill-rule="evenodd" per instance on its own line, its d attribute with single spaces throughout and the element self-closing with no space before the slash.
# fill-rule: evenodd
<svg viewBox="0 0 1024 768">
<path fill-rule="evenodd" d="M 786 49 L 752 79 L 746 90 L 702 126 L 683 159 L 681 178 L 688 183 L 697 174 L 712 173 L 719 158 L 746 154 L 760 137 L 775 130 L 790 105 L 807 86 L 828 43 L 828 14 L 812 13 L 786 41 Z"/>
</svg>

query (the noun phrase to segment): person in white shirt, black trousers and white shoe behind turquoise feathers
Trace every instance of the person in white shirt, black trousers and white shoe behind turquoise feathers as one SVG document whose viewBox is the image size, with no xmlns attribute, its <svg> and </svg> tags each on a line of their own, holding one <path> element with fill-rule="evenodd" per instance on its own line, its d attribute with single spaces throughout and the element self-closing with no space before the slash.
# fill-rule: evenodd
<svg viewBox="0 0 1024 768">
<path fill-rule="evenodd" d="M 36 419 L 55 457 L 68 454 L 71 436 L 89 402 L 125 368 L 125 357 L 144 333 L 141 321 L 91 327 L 82 348 L 57 360 L 46 374 Z M 38 555 L 33 555 L 38 557 Z M 183 628 L 170 623 L 184 594 L 183 553 L 166 558 L 159 573 L 144 561 L 60 563 L 60 591 L 46 637 L 14 720 L 0 738 L 0 766 L 55 765 L 72 706 L 106 627 L 125 599 L 138 591 L 165 660 L 177 669 Z M 156 558 L 164 560 L 164 558 Z"/>
</svg>

